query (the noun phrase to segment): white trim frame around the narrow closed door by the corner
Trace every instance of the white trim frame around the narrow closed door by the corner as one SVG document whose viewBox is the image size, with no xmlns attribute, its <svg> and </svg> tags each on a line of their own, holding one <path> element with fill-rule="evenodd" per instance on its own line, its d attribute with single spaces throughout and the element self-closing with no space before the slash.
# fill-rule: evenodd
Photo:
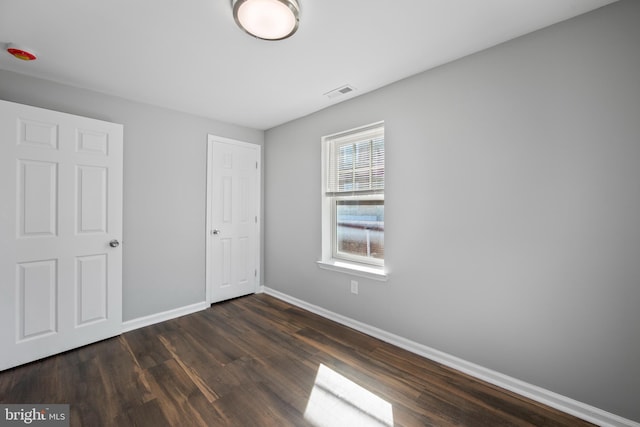
<svg viewBox="0 0 640 427">
<path fill-rule="evenodd" d="M 236 139 L 225 138 L 222 136 L 207 135 L 207 201 L 206 201 L 206 228 L 205 228 L 205 299 L 207 304 L 211 304 L 213 301 L 213 266 L 211 261 L 212 255 L 212 241 L 213 241 L 213 224 L 212 224 L 212 213 L 213 213 L 213 146 L 215 142 L 222 142 L 225 144 L 232 144 L 241 147 L 250 147 L 257 150 L 258 154 L 258 182 L 256 191 L 256 206 L 258 216 L 257 223 L 257 233 L 258 233 L 258 245 L 257 245 L 257 253 L 256 253 L 256 269 L 258 274 L 256 276 L 255 282 L 255 292 L 260 289 L 260 278 L 262 277 L 262 268 L 261 268 L 261 260 L 262 260 L 262 146 L 259 144 L 253 144 L 250 142 L 239 141 Z"/>
</svg>

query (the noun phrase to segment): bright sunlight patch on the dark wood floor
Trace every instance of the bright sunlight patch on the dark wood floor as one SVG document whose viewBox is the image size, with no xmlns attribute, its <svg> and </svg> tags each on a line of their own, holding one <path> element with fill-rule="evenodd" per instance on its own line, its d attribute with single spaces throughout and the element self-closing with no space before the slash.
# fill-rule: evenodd
<svg viewBox="0 0 640 427">
<path fill-rule="evenodd" d="M 316 427 L 393 427 L 393 408 L 386 400 L 320 364 L 304 418 Z"/>
</svg>

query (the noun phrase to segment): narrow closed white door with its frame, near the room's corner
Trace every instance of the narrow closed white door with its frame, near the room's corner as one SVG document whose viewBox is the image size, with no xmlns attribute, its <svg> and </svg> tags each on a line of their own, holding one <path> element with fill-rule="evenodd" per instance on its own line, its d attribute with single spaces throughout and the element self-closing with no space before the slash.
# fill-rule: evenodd
<svg viewBox="0 0 640 427">
<path fill-rule="evenodd" d="M 207 301 L 254 293 L 259 281 L 260 146 L 209 135 Z"/>
</svg>

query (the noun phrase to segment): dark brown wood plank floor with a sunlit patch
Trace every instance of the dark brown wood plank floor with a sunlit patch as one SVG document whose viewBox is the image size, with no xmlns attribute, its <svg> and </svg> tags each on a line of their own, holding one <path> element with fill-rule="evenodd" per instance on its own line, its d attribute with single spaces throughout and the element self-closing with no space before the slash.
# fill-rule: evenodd
<svg viewBox="0 0 640 427">
<path fill-rule="evenodd" d="M 258 294 L 0 373 L 72 426 L 586 426 Z"/>
</svg>

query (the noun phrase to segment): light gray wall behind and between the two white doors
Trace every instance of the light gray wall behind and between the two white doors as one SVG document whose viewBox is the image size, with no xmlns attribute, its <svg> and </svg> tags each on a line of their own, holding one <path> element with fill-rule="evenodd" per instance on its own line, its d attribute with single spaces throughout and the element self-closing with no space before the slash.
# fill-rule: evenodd
<svg viewBox="0 0 640 427">
<path fill-rule="evenodd" d="M 207 133 L 262 131 L 2 70 L 0 98 L 124 125 L 124 320 L 205 300 Z"/>
</svg>

